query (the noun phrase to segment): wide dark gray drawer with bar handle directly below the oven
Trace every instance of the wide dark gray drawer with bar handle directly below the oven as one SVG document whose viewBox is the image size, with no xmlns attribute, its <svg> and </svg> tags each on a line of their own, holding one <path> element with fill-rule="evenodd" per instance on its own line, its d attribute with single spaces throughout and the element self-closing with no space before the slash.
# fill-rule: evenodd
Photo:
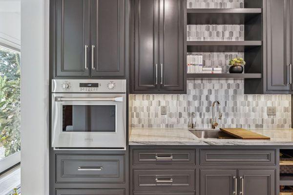
<svg viewBox="0 0 293 195">
<path fill-rule="evenodd" d="M 124 182 L 124 155 L 56 155 L 56 183 Z"/>
</svg>

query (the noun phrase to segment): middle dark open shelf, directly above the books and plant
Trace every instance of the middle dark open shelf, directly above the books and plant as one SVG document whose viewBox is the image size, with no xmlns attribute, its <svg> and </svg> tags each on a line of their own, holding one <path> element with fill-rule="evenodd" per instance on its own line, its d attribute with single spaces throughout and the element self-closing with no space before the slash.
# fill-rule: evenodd
<svg viewBox="0 0 293 195">
<path fill-rule="evenodd" d="M 259 40 L 243 41 L 187 41 L 188 52 L 245 52 L 262 45 Z"/>
</svg>

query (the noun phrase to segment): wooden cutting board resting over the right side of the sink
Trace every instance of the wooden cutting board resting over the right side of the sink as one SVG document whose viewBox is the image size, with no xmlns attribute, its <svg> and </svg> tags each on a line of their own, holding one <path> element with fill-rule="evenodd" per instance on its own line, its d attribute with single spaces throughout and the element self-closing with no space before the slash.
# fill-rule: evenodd
<svg viewBox="0 0 293 195">
<path fill-rule="evenodd" d="M 221 131 L 240 139 L 271 139 L 242 128 L 220 128 Z"/>
</svg>

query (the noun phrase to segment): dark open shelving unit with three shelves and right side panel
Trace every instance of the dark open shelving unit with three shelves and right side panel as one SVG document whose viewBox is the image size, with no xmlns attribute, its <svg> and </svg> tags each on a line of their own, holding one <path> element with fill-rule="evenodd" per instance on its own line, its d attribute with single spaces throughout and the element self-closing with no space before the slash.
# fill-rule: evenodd
<svg viewBox="0 0 293 195">
<path fill-rule="evenodd" d="M 245 8 L 187 9 L 187 25 L 244 25 L 244 39 L 187 39 L 188 53 L 243 52 L 243 74 L 187 74 L 187 79 L 244 79 L 246 94 L 262 94 L 262 1 L 244 0 Z M 253 84 L 252 84 L 253 83 Z"/>
</svg>

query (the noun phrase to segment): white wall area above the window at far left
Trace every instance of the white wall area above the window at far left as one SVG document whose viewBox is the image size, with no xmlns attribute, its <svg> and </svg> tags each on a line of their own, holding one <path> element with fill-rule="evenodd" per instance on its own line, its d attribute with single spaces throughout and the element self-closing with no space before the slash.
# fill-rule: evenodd
<svg viewBox="0 0 293 195">
<path fill-rule="evenodd" d="M 0 0 L 0 42 L 20 49 L 21 0 Z"/>
</svg>

